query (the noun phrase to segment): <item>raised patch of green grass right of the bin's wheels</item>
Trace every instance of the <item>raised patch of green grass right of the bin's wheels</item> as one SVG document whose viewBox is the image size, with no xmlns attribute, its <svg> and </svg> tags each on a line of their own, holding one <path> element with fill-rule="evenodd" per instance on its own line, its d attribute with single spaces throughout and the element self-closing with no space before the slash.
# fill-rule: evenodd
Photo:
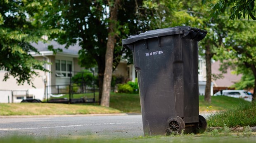
<svg viewBox="0 0 256 143">
<path fill-rule="evenodd" d="M 256 103 L 243 102 L 225 111 L 219 111 L 209 116 L 209 127 L 250 127 L 256 126 Z"/>
</svg>

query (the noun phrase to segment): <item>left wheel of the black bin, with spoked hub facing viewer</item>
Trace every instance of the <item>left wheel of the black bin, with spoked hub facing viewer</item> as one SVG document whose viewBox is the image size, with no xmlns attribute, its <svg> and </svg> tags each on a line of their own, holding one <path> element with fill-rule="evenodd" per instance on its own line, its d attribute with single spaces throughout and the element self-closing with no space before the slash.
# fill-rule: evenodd
<svg viewBox="0 0 256 143">
<path fill-rule="evenodd" d="M 167 134 L 181 134 L 182 130 L 185 129 L 185 122 L 179 116 L 171 116 L 166 122 Z"/>
</svg>

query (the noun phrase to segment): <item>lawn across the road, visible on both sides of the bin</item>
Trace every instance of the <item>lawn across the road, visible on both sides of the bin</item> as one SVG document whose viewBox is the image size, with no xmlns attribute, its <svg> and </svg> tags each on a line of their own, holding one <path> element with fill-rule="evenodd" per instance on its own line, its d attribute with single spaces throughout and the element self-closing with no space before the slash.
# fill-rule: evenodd
<svg viewBox="0 0 256 143">
<path fill-rule="evenodd" d="M 93 94 L 76 94 L 74 98 L 86 96 L 92 98 Z M 68 97 L 68 95 L 64 95 Z M 63 98 L 63 97 L 62 97 Z M 98 93 L 96 93 L 96 101 Z M 212 103 L 204 102 L 199 96 L 199 111 L 211 112 L 231 109 L 239 103 L 247 103 L 243 99 L 225 96 L 212 97 Z M 105 108 L 95 104 L 52 104 L 52 103 L 16 103 L 0 104 L 0 115 L 63 115 L 63 114 L 92 114 L 92 113 L 141 113 L 139 94 L 111 93 L 110 107 Z"/>
</svg>

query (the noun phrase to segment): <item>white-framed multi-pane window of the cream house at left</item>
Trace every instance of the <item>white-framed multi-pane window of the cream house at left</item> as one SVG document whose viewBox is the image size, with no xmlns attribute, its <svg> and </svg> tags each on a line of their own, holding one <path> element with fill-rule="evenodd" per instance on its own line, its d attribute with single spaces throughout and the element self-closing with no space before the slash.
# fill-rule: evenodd
<svg viewBox="0 0 256 143">
<path fill-rule="evenodd" d="M 56 76 L 71 77 L 72 76 L 72 61 L 70 60 L 55 60 Z"/>
</svg>

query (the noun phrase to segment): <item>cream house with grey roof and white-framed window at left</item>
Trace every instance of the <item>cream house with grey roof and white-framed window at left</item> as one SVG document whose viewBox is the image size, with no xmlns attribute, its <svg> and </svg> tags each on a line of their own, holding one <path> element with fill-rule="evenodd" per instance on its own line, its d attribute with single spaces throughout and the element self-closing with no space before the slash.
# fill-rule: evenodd
<svg viewBox="0 0 256 143">
<path fill-rule="evenodd" d="M 48 50 L 48 45 L 53 45 L 54 48 L 61 48 L 63 52 L 58 52 L 55 55 L 53 51 Z M 36 88 L 33 88 L 27 83 L 18 85 L 16 79 L 12 76 L 7 81 L 2 81 L 5 71 L 0 71 L 1 103 L 20 102 L 22 99 L 26 99 L 26 97 L 45 99 L 46 90 L 48 93 L 56 90 L 56 88 L 50 88 L 50 85 L 67 85 L 70 81 L 70 71 L 81 71 L 83 69 L 78 65 L 78 51 L 80 48 L 77 45 L 70 46 L 66 49 L 64 45 L 59 45 L 57 42 L 52 41 L 50 43 L 33 43 L 32 46 L 36 47 L 40 52 L 40 54 L 31 53 L 35 59 L 52 63 L 52 65 L 45 64 L 45 68 L 51 71 L 51 73 L 38 71 L 39 76 L 33 79 L 33 84 Z M 47 86 L 48 89 L 46 89 Z M 62 88 L 65 88 L 65 86 Z"/>
</svg>

